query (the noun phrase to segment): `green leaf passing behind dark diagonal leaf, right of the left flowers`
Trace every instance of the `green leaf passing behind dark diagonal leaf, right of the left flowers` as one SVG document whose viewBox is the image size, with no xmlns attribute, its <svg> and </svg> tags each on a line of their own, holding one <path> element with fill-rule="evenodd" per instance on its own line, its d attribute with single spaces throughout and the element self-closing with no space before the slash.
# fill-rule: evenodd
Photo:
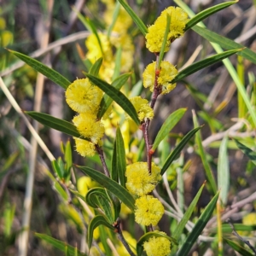
<svg viewBox="0 0 256 256">
<path fill-rule="evenodd" d="M 131 73 L 124 73 L 120 75 L 117 79 L 114 79 L 111 85 L 116 90 L 120 90 L 130 76 L 131 76 Z M 107 94 L 105 94 L 102 97 L 102 101 L 100 103 L 100 109 L 99 109 L 99 112 L 97 113 L 98 119 L 102 119 L 102 116 L 104 115 L 104 113 L 106 113 L 106 111 L 108 110 L 112 102 L 113 102 L 113 99 Z"/>
</svg>

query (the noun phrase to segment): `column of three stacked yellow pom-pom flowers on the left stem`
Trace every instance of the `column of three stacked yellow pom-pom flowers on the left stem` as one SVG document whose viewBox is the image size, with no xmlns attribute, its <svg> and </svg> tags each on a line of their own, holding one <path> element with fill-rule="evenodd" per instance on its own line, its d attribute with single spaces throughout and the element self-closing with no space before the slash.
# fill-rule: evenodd
<svg viewBox="0 0 256 256">
<path fill-rule="evenodd" d="M 77 79 L 66 90 L 66 101 L 70 108 L 78 112 L 73 118 L 81 138 L 75 137 L 76 150 L 82 156 L 93 156 L 96 144 L 101 144 L 104 125 L 96 114 L 102 100 L 102 90 L 90 83 L 89 79 Z"/>
</svg>

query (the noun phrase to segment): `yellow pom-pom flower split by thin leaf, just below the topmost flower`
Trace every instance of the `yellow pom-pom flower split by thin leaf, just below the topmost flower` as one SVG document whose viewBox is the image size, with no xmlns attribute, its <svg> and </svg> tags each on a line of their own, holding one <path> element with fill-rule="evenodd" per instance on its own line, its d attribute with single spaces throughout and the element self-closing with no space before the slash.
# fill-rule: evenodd
<svg viewBox="0 0 256 256">
<path fill-rule="evenodd" d="M 166 94 L 176 87 L 176 84 L 172 84 L 172 80 L 177 75 L 177 69 L 168 61 L 161 61 L 160 74 L 157 79 L 158 86 L 161 87 L 161 94 Z M 155 61 L 150 63 L 143 72 L 143 85 L 145 88 L 149 87 L 149 90 L 154 90 L 154 78 L 155 78 Z"/>
</svg>

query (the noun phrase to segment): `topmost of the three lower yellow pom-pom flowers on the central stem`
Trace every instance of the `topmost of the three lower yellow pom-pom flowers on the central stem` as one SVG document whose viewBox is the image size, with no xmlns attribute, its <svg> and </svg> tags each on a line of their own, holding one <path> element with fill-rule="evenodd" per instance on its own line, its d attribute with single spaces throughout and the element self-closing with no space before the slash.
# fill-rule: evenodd
<svg viewBox="0 0 256 256">
<path fill-rule="evenodd" d="M 126 189 L 134 195 L 147 195 L 161 179 L 160 167 L 152 163 L 151 174 L 149 174 L 147 163 L 137 162 L 126 167 L 125 176 L 127 177 Z"/>
</svg>

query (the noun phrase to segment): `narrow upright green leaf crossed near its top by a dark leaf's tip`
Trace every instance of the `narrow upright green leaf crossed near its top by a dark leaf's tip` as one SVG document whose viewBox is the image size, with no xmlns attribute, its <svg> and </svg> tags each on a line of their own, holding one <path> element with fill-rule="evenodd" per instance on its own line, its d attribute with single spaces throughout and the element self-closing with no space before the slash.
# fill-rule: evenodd
<svg viewBox="0 0 256 256">
<path fill-rule="evenodd" d="M 198 121 L 197 121 L 197 118 L 196 118 L 196 115 L 195 113 L 193 112 L 193 121 L 194 121 L 194 126 L 195 128 L 198 127 Z M 214 194 L 216 194 L 217 192 L 217 184 L 216 184 L 216 181 L 215 181 L 215 178 L 212 174 L 212 169 L 211 169 L 211 166 L 207 160 L 207 154 L 203 148 L 203 145 L 201 143 L 201 132 L 198 132 L 196 135 L 195 135 L 195 143 L 198 147 L 198 150 L 199 150 L 199 154 L 201 156 L 201 161 L 202 161 L 202 164 L 204 166 L 204 170 L 206 172 L 206 176 L 207 176 L 207 180 L 209 181 L 211 187 L 212 187 L 212 191 Z"/>
</svg>

